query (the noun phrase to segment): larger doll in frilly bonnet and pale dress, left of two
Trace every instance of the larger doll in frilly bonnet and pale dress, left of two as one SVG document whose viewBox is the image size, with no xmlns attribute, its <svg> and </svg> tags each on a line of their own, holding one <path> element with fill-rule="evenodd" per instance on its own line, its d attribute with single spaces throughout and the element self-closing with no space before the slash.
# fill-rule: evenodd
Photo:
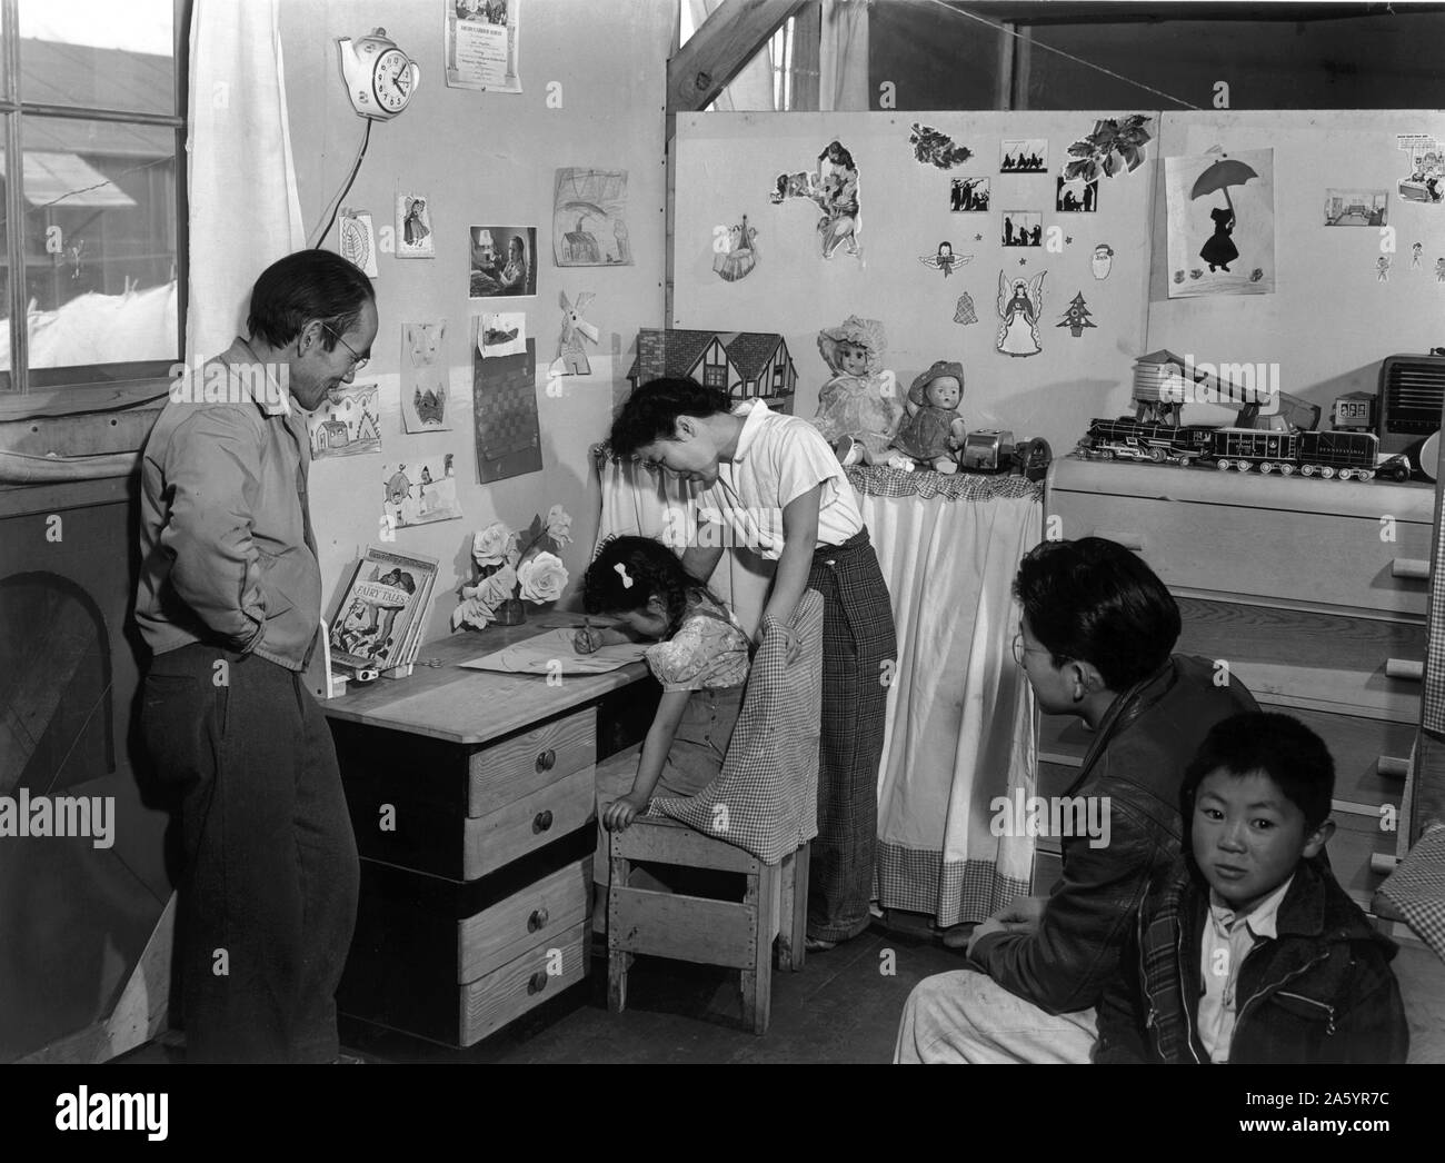
<svg viewBox="0 0 1445 1163">
<path fill-rule="evenodd" d="M 850 315 L 818 332 L 818 351 L 832 379 L 818 390 L 814 426 L 832 444 L 842 464 L 889 464 L 903 409 L 893 397 L 893 377 L 881 373 L 887 341 L 883 324 Z"/>
</svg>

